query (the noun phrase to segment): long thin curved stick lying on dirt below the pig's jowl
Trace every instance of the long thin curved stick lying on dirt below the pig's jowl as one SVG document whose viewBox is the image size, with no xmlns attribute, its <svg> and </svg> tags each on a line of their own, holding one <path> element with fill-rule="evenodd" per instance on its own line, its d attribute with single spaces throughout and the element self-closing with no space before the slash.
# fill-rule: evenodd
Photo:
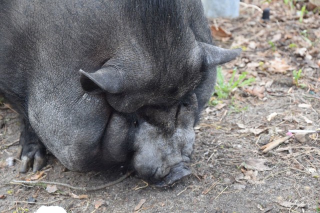
<svg viewBox="0 0 320 213">
<path fill-rule="evenodd" d="M 127 172 L 124 176 L 122 176 L 121 178 L 112 181 L 110 183 L 98 186 L 98 187 L 73 187 L 71 185 L 68 184 L 63 184 L 63 183 L 57 183 L 57 182 L 50 182 L 50 181 L 16 181 L 13 180 L 12 182 L 10 182 L 10 184 L 26 184 L 26 185 L 37 185 L 37 184 L 50 184 L 50 185 L 57 185 L 57 186 L 63 186 L 63 187 L 67 187 L 73 190 L 81 190 L 81 191 L 96 191 L 96 190 L 101 190 L 107 187 L 110 187 L 112 185 L 118 184 L 120 182 L 122 182 L 124 179 L 126 179 L 127 177 L 129 177 L 131 175 L 132 172 Z"/>
</svg>

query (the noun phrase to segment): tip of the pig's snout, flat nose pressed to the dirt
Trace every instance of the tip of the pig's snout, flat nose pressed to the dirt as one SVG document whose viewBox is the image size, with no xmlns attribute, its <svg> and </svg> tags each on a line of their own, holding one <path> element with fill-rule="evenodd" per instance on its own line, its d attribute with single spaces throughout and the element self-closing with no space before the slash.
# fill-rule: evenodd
<svg viewBox="0 0 320 213">
<path fill-rule="evenodd" d="M 184 165 L 184 163 L 179 163 L 175 167 L 173 167 L 169 174 L 163 178 L 161 182 L 154 182 L 157 187 L 168 187 L 182 179 L 183 177 L 189 176 L 191 171 L 188 167 Z"/>
</svg>

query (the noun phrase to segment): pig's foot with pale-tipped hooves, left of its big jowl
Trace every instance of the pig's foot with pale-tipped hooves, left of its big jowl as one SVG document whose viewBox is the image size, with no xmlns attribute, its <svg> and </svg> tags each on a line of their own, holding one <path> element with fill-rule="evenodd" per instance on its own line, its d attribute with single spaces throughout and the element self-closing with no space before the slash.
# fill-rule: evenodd
<svg viewBox="0 0 320 213">
<path fill-rule="evenodd" d="M 46 164 L 45 147 L 39 141 L 32 128 L 23 122 L 20 135 L 18 157 L 21 159 L 20 173 L 25 173 L 32 166 L 32 172 L 40 170 Z"/>
</svg>

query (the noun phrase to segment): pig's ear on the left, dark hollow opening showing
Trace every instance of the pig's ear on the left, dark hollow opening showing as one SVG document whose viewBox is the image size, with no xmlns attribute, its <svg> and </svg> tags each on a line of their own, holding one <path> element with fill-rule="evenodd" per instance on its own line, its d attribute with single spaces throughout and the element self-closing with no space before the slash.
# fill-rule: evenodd
<svg viewBox="0 0 320 213">
<path fill-rule="evenodd" d="M 104 67 L 95 72 L 79 70 L 81 87 L 86 92 L 120 93 L 123 90 L 123 80 L 118 70 Z"/>
</svg>

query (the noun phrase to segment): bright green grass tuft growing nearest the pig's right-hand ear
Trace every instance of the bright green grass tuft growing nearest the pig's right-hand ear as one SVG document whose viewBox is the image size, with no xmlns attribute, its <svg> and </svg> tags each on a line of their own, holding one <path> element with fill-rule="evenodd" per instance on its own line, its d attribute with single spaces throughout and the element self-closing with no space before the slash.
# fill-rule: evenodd
<svg viewBox="0 0 320 213">
<path fill-rule="evenodd" d="M 237 79 L 235 79 L 236 68 L 233 69 L 231 78 L 226 81 L 222 74 L 222 67 L 216 68 L 216 85 L 214 87 L 214 93 L 212 96 L 216 96 L 216 100 L 210 101 L 210 105 L 216 105 L 218 100 L 227 99 L 230 97 L 230 93 L 236 88 L 251 85 L 255 81 L 255 78 L 247 78 L 247 73 L 242 72 Z"/>
</svg>

